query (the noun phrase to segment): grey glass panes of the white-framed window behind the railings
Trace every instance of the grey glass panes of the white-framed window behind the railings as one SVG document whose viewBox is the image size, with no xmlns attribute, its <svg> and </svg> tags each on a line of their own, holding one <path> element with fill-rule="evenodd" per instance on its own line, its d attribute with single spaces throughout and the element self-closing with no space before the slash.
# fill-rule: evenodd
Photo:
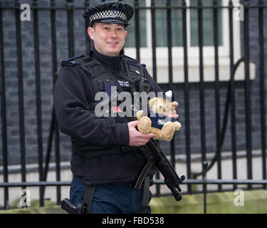
<svg viewBox="0 0 267 228">
<path fill-rule="evenodd" d="M 197 0 L 190 0 L 191 6 L 197 6 Z M 127 3 L 134 5 L 134 0 L 128 0 Z M 146 1 L 140 1 L 140 6 L 146 6 Z M 182 6 L 182 0 L 172 0 L 172 6 Z M 203 6 L 211 6 L 212 0 L 206 0 Z M 221 5 L 221 4 L 220 4 Z M 148 5 L 150 6 L 150 5 Z M 156 0 L 155 6 L 166 6 L 166 1 Z M 157 9 L 156 12 L 156 31 L 157 32 L 157 47 L 167 46 L 167 11 L 166 9 Z M 204 9 L 204 46 L 212 46 L 213 41 L 213 25 L 212 25 L 212 10 Z M 132 18 L 132 24 L 127 28 L 129 32 L 129 37 L 125 43 L 125 47 L 135 46 L 135 15 Z M 142 37 L 147 36 L 147 16 L 144 9 L 140 10 L 140 33 Z M 197 9 L 191 9 L 190 12 L 190 34 L 191 36 L 191 46 L 198 46 L 198 23 L 197 23 Z M 219 28 L 222 24 L 221 9 L 219 10 Z M 162 32 L 165 31 L 165 32 Z M 172 46 L 182 46 L 182 36 L 177 36 L 177 34 L 182 34 L 182 10 L 172 9 Z M 141 39 L 141 47 L 147 47 L 147 39 Z M 222 30 L 219 29 L 219 44 L 222 44 Z"/>
</svg>

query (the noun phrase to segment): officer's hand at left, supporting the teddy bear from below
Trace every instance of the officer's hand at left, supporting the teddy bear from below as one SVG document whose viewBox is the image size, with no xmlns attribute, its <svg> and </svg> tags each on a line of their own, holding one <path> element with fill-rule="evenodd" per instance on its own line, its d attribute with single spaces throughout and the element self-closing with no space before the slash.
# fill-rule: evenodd
<svg viewBox="0 0 267 228">
<path fill-rule="evenodd" d="M 145 145 L 150 138 L 155 137 L 155 134 L 148 133 L 143 134 L 140 133 L 138 130 L 136 130 L 135 127 L 137 127 L 139 120 L 131 121 L 128 123 L 128 129 L 129 129 L 129 145 L 131 146 L 141 146 Z"/>
</svg>

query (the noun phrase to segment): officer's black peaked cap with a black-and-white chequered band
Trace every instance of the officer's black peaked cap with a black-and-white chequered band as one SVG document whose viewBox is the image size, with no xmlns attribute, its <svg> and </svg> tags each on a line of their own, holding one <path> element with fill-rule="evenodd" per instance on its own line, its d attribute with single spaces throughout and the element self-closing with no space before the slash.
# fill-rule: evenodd
<svg viewBox="0 0 267 228">
<path fill-rule="evenodd" d="M 107 24 L 125 24 L 132 18 L 132 6 L 122 1 L 107 1 L 85 9 L 83 17 L 89 26 L 95 22 Z"/>
</svg>

